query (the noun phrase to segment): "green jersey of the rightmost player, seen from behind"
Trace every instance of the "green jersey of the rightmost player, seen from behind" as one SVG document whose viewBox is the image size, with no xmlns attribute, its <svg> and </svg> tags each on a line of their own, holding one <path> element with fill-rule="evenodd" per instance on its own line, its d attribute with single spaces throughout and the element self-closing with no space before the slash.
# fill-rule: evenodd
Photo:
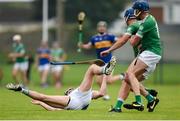
<svg viewBox="0 0 180 121">
<path fill-rule="evenodd" d="M 162 48 L 159 29 L 157 22 L 152 15 L 148 15 L 143 20 L 136 35 L 141 38 L 143 50 L 149 50 L 157 55 L 161 55 Z"/>
</svg>

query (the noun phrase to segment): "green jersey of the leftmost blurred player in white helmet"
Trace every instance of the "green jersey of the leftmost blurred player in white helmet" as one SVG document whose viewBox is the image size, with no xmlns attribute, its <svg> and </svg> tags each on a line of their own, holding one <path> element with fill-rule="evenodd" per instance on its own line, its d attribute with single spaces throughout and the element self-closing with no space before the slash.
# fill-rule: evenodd
<svg viewBox="0 0 180 121">
<path fill-rule="evenodd" d="M 25 48 L 22 43 L 14 43 L 13 44 L 13 52 L 14 53 L 19 53 L 19 54 L 25 54 Z M 16 62 L 21 63 L 26 61 L 25 57 L 18 57 L 16 58 Z"/>
</svg>

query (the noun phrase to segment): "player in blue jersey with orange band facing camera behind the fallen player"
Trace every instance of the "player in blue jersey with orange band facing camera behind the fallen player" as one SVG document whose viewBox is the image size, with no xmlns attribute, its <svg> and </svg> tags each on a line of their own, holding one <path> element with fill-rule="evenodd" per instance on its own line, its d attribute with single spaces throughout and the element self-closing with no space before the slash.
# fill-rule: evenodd
<svg viewBox="0 0 180 121">
<path fill-rule="evenodd" d="M 112 57 L 112 53 L 109 53 L 108 55 L 106 55 L 104 57 L 102 57 L 100 55 L 100 53 L 102 51 L 110 48 L 116 42 L 117 39 L 118 38 L 115 35 L 108 33 L 107 22 L 106 21 L 99 21 L 97 23 L 97 34 L 93 35 L 90 38 L 90 41 L 88 43 L 86 43 L 86 44 L 79 43 L 78 46 L 79 46 L 79 48 L 87 49 L 87 50 L 95 48 L 97 58 L 103 60 L 107 64 Z M 111 83 L 115 82 L 116 80 L 119 80 L 120 75 L 117 75 L 117 76 L 112 76 L 112 75 L 96 76 L 96 82 L 99 85 L 99 87 L 101 87 L 103 79 L 106 79 L 107 83 L 111 84 Z M 109 100 L 110 96 L 108 94 L 106 94 L 103 97 L 103 99 Z"/>
</svg>

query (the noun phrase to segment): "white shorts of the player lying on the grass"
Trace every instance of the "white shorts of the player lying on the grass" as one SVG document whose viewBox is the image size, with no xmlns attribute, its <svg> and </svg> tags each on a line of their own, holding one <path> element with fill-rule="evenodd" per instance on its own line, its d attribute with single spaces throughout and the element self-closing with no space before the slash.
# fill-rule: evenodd
<svg viewBox="0 0 180 121">
<path fill-rule="evenodd" d="M 92 100 L 92 90 L 81 92 L 79 88 L 73 90 L 70 94 L 70 102 L 65 109 L 67 110 L 83 110 Z"/>
</svg>

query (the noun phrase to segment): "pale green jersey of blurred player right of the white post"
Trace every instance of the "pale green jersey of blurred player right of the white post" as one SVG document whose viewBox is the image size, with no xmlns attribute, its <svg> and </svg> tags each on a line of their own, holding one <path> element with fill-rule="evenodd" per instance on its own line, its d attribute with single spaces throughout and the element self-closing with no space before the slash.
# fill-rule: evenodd
<svg viewBox="0 0 180 121">
<path fill-rule="evenodd" d="M 55 58 L 57 61 L 59 60 L 59 58 L 63 56 L 63 54 L 64 54 L 64 51 L 61 48 L 51 50 L 51 56 Z"/>
</svg>

